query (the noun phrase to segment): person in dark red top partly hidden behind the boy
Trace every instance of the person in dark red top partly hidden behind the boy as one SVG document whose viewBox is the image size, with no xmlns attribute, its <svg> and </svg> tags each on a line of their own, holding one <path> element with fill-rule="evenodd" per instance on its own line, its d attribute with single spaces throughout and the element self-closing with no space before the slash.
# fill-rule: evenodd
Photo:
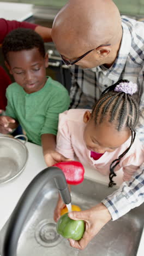
<svg viewBox="0 0 144 256">
<path fill-rule="evenodd" d="M 35 30 L 40 36 L 44 39 L 44 42 L 50 42 L 51 39 L 51 28 L 39 26 L 37 24 L 31 24 L 29 22 L 19 22 L 16 20 L 5 20 L 0 19 L 0 45 L 3 43 L 5 36 L 15 28 L 24 27 L 24 28 L 31 28 Z M 5 92 L 8 85 L 11 84 L 11 80 L 9 75 L 5 70 L 0 66 L 0 112 L 1 109 L 5 110 L 7 106 L 7 98 L 5 97 Z M 1 114 L 1 113 L 0 113 Z"/>
</svg>

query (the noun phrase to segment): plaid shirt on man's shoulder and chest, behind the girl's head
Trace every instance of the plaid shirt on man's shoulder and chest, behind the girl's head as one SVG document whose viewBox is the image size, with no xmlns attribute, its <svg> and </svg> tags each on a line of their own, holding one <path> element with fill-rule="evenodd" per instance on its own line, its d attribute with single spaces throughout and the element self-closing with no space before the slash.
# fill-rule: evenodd
<svg viewBox="0 0 144 256">
<path fill-rule="evenodd" d="M 144 23 L 122 16 L 123 37 L 117 58 L 110 68 L 98 66 L 82 69 L 71 67 L 70 108 L 92 108 L 108 86 L 119 79 L 138 85 L 134 95 L 140 105 L 137 135 L 144 143 Z"/>
</svg>

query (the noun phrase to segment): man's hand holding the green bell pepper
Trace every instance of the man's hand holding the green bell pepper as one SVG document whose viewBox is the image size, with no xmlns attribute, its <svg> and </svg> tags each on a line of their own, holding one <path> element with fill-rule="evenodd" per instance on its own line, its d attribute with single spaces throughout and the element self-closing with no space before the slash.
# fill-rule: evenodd
<svg viewBox="0 0 144 256">
<path fill-rule="evenodd" d="M 85 249 L 92 238 L 97 235 L 103 226 L 111 219 L 111 214 L 103 203 L 81 212 L 70 212 L 68 216 L 74 220 L 85 221 L 85 233 L 79 241 L 69 239 L 70 246 L 77 249 Z"/>
</svg>

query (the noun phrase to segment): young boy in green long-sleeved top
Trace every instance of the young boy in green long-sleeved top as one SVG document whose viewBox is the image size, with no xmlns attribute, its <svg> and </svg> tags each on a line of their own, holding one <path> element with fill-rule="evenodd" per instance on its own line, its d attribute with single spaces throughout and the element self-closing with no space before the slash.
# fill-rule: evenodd
<svg viewBox="0 0 144 256">
<path fill-rule="evenodd" d="M 46 77 L 48 56 L 43 39 L 35 31 L 27 28 L 11 31 L 4 39 L 2 50 L 15 83 L 7 89 L 8 104 L 5 116 L 0 117 L 0 132 L 11 132 L 20 124 L 28 141 L 42 144 L 46 164 L 50 166 L 58 115 L 70 103 L 68 91 Z"/>
</svg>

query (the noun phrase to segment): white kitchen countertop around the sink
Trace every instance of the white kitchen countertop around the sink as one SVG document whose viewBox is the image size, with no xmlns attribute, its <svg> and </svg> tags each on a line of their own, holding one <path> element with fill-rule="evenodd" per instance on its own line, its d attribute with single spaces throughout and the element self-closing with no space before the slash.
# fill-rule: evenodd
<svg viewBox="0 0 144 256">
<path fill-rule="evenodd" d="M 17 201 L 20 199 L 23 191 L 26 189 L 27 185 L 32 181 L 32 179 L 45 167 L 46 164 L 43 158 L 43 150 L 41 146 L 35 145 L 30 142 L 26 142 L 28 148 L 29 157 L 25 170 L 12 181 L 4 184 L 0 184 L 0 201 L 1 201 L 1 212 L 0 212 L 0 230 L 3 225 L 7 222 L 10 217 L 11 212 L 13 212 Z M 85 178 L 92 179 L 103 184 L 108 184 L 109 177 L 102 176 L 97 171 L 85 167 Z M 122 183 L 122 172 L 117 173 L 115 178 L 117 185 Z M 144 233 L 140 243 L 139 253 L 137 256 L 143 255 L 144 249 Z"/>
</svg>

